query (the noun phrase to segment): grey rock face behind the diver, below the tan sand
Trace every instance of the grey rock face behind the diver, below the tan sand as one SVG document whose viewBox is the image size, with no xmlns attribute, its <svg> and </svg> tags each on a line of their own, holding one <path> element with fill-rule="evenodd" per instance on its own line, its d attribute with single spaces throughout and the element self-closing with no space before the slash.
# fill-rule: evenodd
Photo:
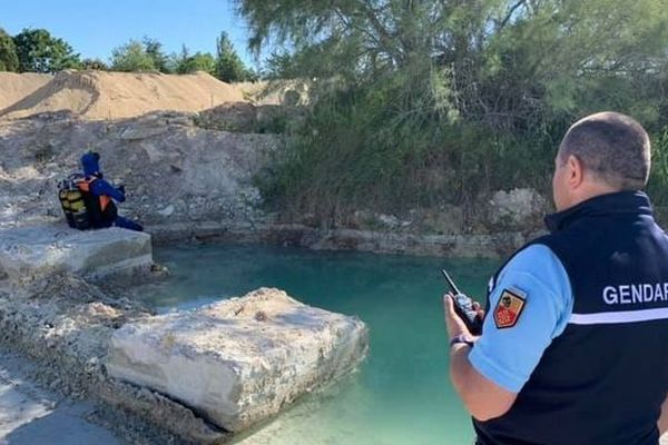
<svg viewBox="0 0 668 445">
<path fill-rule="evenodd" d="M 101 155 L 111 182 L 126 186 L 120 214 L 147 227 L 253 224 L 264 215 L 253 178 L 281 144 L 276 135 L 204 130 L 177 112 L 112 122 L 0 119 L 0 227 L 62 220 L 57 184 L 80 171 L 87 149 Z"/>
</svg>

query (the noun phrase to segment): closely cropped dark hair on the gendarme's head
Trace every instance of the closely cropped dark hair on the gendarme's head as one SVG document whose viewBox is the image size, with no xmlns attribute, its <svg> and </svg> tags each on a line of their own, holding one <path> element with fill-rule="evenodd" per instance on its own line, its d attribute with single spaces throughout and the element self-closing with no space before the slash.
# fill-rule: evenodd
<svg viewBox="0 0 668 445">
<path fill-rule="evenodd" d="M 647 131 L 635 119 L 619 112 L 588 116 L 568 130 L 559 158 L 574 155 L 586 169 L 619 190 L 647 186 L 651 149 Z"/>
</svg>

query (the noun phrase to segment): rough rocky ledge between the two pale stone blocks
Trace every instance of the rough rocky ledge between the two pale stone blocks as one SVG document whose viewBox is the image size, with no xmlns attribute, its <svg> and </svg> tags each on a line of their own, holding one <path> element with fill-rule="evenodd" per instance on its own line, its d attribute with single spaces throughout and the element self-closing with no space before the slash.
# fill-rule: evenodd
<svg viewBox="0 0 668 445">
<path fill-rule="evenodd" d="M 141 305 L 70 274 L 3 285 L 0 344 L 39 363 L 31 376 L 40 384 L 94 402 L 98 419 L 125 442 L 220 444 L 230 437 L 169 397 L 107 376 L 110 338 L 124 323 L 150 317 Z"/>
</svg>

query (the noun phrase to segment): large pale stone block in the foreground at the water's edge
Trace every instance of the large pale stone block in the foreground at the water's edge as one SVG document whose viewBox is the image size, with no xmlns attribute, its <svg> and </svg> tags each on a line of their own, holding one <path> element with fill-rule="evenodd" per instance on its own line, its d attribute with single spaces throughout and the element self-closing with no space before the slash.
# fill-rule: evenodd
<svg viewBox="0 0 668 445">
<path fill-rule="evenodd" d="M 367 345 L 357 318 L 262 288 L 121 327 L 107 370 L 238 432 L 354 369 Z"/>
</svg>

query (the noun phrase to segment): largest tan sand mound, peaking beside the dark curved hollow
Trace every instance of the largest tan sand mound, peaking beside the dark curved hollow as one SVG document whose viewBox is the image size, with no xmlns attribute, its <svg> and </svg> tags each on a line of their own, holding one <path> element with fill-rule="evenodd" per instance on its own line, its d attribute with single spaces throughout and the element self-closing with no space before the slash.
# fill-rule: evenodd
<svg viewBox="0 0 668 445">
<path fill-rule="evenodd" d="M 0 95 L 4 93 L 2 90 L 4 85 L 0 83 Z M 173 76 L 62 71 L 41 88 L 1 110 L 0 118 L 14 119 L 41 112 L 70 111 L 84 119 L 119 119 L 159 110 L 200 111 L 220 103 L 244 100 L 239 88 L 205 72 Z"/>
</svg>

